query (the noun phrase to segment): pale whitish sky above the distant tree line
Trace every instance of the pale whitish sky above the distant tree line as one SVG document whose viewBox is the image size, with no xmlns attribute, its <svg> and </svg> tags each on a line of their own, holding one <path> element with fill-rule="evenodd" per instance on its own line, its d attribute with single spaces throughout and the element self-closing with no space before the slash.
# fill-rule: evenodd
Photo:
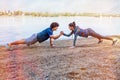
<svg viewBox="0 0 120 80">
<path fill-rule="evenodd" d="M 120 13 L 120 0 L 0 0 L 0 11 Z"/>
</svg>

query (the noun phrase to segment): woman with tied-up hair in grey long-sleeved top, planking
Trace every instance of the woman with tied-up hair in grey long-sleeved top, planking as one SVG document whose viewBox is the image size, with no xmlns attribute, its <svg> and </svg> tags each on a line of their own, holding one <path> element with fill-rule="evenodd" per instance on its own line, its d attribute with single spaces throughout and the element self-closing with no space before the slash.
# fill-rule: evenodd
<svg viewBox="0 0 120 80">
<path fill-rule="evenodd" d="M 74 48 L 76 46 L 76 40 L 77 40 L 78 36 L 86 37 L 86 38 L 88 38 L 88 36 L 92 36 L 92 37 L 97 38 L 99 40 L 98 44 L 103 42 L 102 39 L 106 39 L 106 40 L 112 41 L 113 42 L 112 45 L 114 45 L 117 42 L 117 40 L 114 40 L 113 38 L 102 36 L 102 35 L 96 33 L 91 28 L 81 29 L 79 26 L 76 26 L 75 22 L 72 22 L 72 23 L 69 24 L 69 29 L 71 30 L 70 34 L 65 34 L 64 32 L 61 32 L 61 33 L 63 33 L 63 35 L 67 36 L 67 37 L 71 36 L 72 34 L 75 35 L 72 48 Z"/>
</svg>

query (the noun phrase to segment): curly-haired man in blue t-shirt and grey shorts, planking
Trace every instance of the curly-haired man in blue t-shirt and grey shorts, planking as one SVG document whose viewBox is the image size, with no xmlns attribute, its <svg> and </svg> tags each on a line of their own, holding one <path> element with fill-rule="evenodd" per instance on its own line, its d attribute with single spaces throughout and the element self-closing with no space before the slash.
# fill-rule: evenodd
<svg viewBox="0 0 120 80">
<path fill-rule="evenodd" d="M 56 31 L 58 29 L 58 27 L 59 27 L 59 24 L 57 22 L 53 22 L 53 23 L 51 23 L 50 27 L 48 27 L 47 29 L 45 29 L 37 34 L 33 34 L 31 37 L 29 37 L 27 39 L 22 39 L 22 40 L 8 43 L 6 45 L 6 48 L 8 50 L 11 50 L 12 45 L 19 45 L 19 44 L 26 44 L 27 46 L 30 46 L 32 44 L 35 44 L 36 42 L 42 43 L 42 42 L 48 40 L 49 38 L 50 38 L 50 46 L 54 47 L 53 40 L 58 39 L 62 35 L 62 33 L 60 33 L 59 35 L 56 35 L 56 36 L 53 35 L 53 31 Z"/>
</svg>

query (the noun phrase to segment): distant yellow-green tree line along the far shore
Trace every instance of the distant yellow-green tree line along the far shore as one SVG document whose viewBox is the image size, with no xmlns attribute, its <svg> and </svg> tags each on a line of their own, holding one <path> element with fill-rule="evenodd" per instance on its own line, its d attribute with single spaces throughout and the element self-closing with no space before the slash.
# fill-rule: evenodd
<svg viewBox="0 0 120 80">
<path fill-rule="evenodd" d="M 23 12 L 23 11 L 0 11 L 0 16 L 34 16 L 34 17 L 59 17 L 59 16 L 87 16 L 87 17 L 120 17 L 120 14 L 103 13 L 49 13 L 49 12 Z"/>
</svg>

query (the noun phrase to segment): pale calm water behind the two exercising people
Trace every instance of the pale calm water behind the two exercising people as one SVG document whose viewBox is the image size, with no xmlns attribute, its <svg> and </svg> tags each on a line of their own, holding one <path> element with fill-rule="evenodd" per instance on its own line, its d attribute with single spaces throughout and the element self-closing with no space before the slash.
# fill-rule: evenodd
<svg viewBox="0 0 120 80">
<path fill-rule="evenodd" d="M 24 39 L 49 27 L 51 22 L 59 22 L 60 31 L 69 33 L 68 24 L 76 21 L 81 28 L 93 28 L 102 35 L 119 35 L 120 18 L 95 17 L 0 17 L 0 44 Z M 72 37 L 71 37 L 72 38 Z M 70 39 L 61 37 L 60 39 Z"/>
</svg>

